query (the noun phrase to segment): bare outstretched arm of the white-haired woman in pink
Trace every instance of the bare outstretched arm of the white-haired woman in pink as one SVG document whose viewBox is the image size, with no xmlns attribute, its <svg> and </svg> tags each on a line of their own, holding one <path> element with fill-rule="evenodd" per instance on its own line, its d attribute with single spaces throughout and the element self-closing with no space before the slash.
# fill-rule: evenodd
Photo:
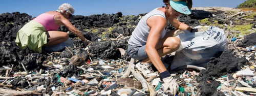
<svg viewBox="0 0 256 96">
<path fill-rule="evenodd" d="M 69 30 L 72 33 L 74 33 L 77 37 L 79 37 L 82 41 L 86 40 L 86 38 L 84 38 L 84 36 L 82 35 L 81 31 L 75 28 L 68 19 L 66 19 L 62 15 L 56 15 L 56 16 L 58 16 L 56 20 L 61 21 L 61 23 L 65 25 L 67 28 L 69 28 Z"/>
</svg>

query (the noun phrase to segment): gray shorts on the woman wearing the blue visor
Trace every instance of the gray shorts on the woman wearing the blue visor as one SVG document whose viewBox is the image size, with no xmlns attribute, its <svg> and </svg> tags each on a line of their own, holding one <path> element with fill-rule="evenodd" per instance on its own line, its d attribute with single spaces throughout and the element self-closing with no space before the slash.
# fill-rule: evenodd
<svg viewBox="0 0 256 96">
<path fill-rule="evenodd" d="M 148 57 L 146 54 L 145 48 L 146 48 L 146 45 L 138 47 L 138 46 L 132 46 L 129 44 L 127 48 L 127 52 L 132 58 L 136 60 L 142 60 Z"/>
</svg>

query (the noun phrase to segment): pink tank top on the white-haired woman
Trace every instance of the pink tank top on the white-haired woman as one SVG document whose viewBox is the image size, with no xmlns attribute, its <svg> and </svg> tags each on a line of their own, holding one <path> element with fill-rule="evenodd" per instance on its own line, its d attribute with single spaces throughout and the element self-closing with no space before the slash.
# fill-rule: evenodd
<svg viewBox="0 0 256 96">
<path fill-rule="evenodd" d="M 34 18 L 33 20 L 42 24 L 46 28 L 46 31 L 58 30 L 59 26 L 55 23 L 53 18 L 54 16 L 55 15 L 43 13 L 37 16 L 36 18 Z"/>
</svg>

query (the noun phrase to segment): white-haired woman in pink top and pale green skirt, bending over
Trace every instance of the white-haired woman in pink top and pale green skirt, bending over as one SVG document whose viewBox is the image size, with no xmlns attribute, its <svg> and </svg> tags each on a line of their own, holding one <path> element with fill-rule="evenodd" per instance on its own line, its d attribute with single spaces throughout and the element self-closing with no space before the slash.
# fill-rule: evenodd
<svg viewBox="0 0 256 96">
<path fill-rule="evenodd" d="M 56 11 L 42 13 L 18 30 L 16 44 L 19 48 L 29 49 L 41 53 L 42 46 L 60 44 L 69 39 L 69 34 L 58 31 L 60 25 L 65 25 L 79 37 L 84 45 L 89 40 L 84 38 L 81 32 L 75 28 L 68 19 L 74 19 L 75 9 L 70 4 L 62 4 Z"/>
</svg>

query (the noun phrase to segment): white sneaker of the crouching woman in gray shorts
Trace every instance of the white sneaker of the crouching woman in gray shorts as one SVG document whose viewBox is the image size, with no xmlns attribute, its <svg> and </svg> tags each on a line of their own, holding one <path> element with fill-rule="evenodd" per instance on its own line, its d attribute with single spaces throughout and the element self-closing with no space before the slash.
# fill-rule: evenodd
<svg viewBox="0 0 256 96">
<path fill-rule="evenodd" d="M 152 70 L 152 63 L 143 63 L 140 64 L 140 61 L 135 65 L 135 67 L 142 72 L 142 74 L 146 77 L 151 77 L 154 75 L 157 75 L 156 73 L 154 73 L 154 71 Z"/>
</svg>

